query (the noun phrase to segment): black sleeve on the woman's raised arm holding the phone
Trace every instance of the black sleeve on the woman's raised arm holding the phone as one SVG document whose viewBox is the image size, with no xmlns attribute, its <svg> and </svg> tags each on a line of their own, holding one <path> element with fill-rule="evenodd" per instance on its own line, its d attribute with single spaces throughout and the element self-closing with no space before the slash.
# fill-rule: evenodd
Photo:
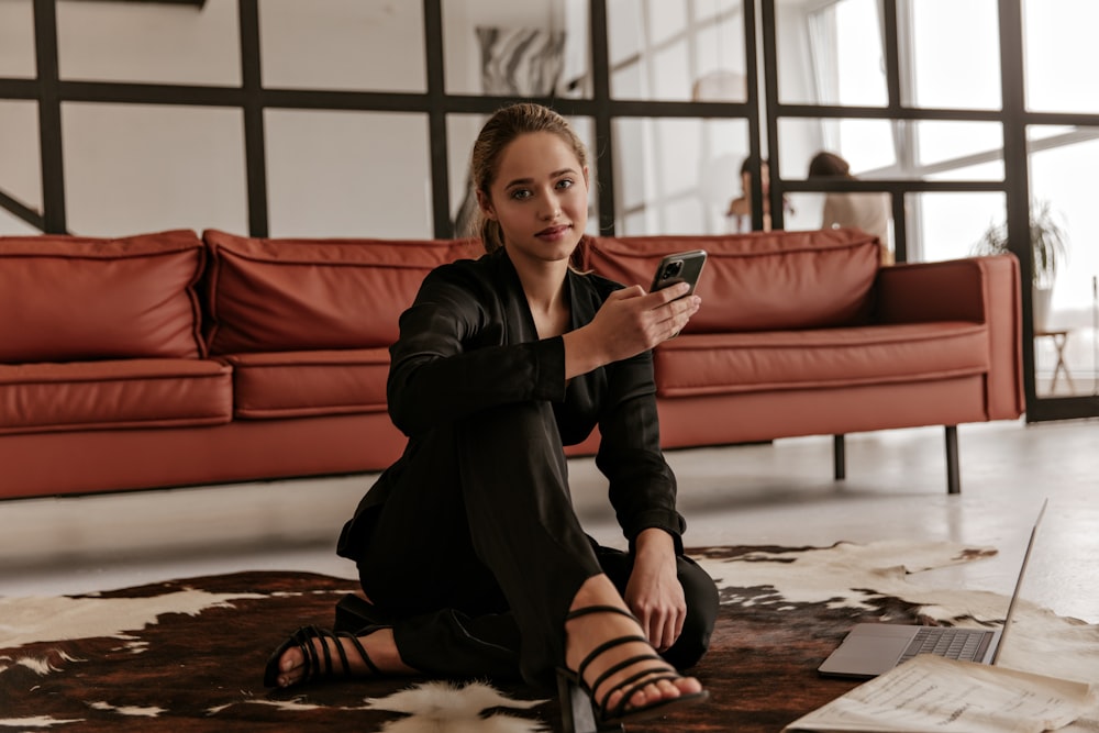
<svg viewBox="0 0 1099 733">
<path fill-rule="evenodd" d="M 564 399 L 563 340 L 517 334 L 513 285 L 492 273 L 470 263 L 433 270 L 401 315 L 386 393 L 406 435 L 500 404 Z"/>
</svg>

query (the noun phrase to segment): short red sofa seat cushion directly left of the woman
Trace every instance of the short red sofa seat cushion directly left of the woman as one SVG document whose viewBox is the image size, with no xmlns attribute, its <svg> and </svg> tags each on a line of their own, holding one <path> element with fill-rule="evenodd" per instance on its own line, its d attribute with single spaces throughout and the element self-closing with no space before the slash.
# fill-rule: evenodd
<svg viewBox="0 0 1099 733">
<path fill-rule="evenodd" d="M 233 354 L 237 418 L 385 412 L 388 348 Z"/>
</svg>

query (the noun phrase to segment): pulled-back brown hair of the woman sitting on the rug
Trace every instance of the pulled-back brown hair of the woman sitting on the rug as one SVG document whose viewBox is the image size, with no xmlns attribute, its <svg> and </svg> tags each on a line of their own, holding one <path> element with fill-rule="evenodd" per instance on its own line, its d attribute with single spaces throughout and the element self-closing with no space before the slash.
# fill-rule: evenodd
<svg viewBox="0 0 1099 733">
<path fill-rule="evenodd" d="M 573 148 L 580 167 L 588 165 L 584 143 L 565 118 L 548 107 L 521 102 L 497 110 L 481 127 L 469 159 L 469 179 L 473 187 L 488 196 L 489 188 L 499 173 L 500 156 L 503 155 L 504 148 L 520 135 L 533 132 L 550 132 L 557 135 Z M 479 211 L 477 229 L 480 231 L 486 252 L 491 253 L 503 247 L 500 223 L 486 216 L 484 211 Z"/>
</svg>

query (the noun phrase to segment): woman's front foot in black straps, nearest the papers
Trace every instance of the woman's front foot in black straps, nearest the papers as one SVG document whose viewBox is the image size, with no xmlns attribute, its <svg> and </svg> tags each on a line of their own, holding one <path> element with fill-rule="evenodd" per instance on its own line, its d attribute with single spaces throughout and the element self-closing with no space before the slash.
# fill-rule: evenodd
<svg viewBox="0 0 1099 733">
<path fill-rule="evenodd" d="M 570 610 L 577 611 L 592 606 L 611 606 L 628 611 L 622 597 L 606 575 L 588 578 L 577 591 L 576 598 L 573 599 Z M 606 642 L 622 636 L 644 636 L 644 632 L 636 621 L 613 612 L 589 613 L 571 619 L 567 622 L 565 632 L 565 664 L 573 670 L 576 670 L 585 657 Z M 584 681 L 590 686 L 615 664 L 630 657 L 646 654 L 656 654 L 648 642 L 637 641 L 611 647 L 591 660 L 589 667 L 584 671 Z M 614 710 L 622 701 L 624 693 L 624 690 L 615 690 L 614 687 L 646 668 L 653 670 L 654 677 L 667 677 L 675 673 L 671 666 L 663 659 L 637 662 L 628 665 L 600 682 L 598 688 L 591 690 L 592 699 L 604 710 Z M 625 690 L 635 684 L 625 685 Z M 644 708 L 656 702 L 674 700 L 685 695 L 697 695 L 701 691 L 702 684 L 693 677 L 677 675 L 674 679 L 658 679 L 636 690 L 630 697 L 625 712 L 629 713 L 631 709 Z"/>
</svg>

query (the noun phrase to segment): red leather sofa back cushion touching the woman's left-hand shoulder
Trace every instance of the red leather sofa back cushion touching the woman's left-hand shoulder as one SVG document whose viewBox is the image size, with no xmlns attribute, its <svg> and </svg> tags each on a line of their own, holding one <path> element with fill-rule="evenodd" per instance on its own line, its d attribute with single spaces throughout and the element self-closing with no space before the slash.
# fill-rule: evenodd
<svg viewBox="0 0 1099 733">
<path fill-rule="evenodd" d="M 484 254 L 475 240 L 202 236 L 213 354 L 389 346 L 431 269 Z"/>
</svg>

